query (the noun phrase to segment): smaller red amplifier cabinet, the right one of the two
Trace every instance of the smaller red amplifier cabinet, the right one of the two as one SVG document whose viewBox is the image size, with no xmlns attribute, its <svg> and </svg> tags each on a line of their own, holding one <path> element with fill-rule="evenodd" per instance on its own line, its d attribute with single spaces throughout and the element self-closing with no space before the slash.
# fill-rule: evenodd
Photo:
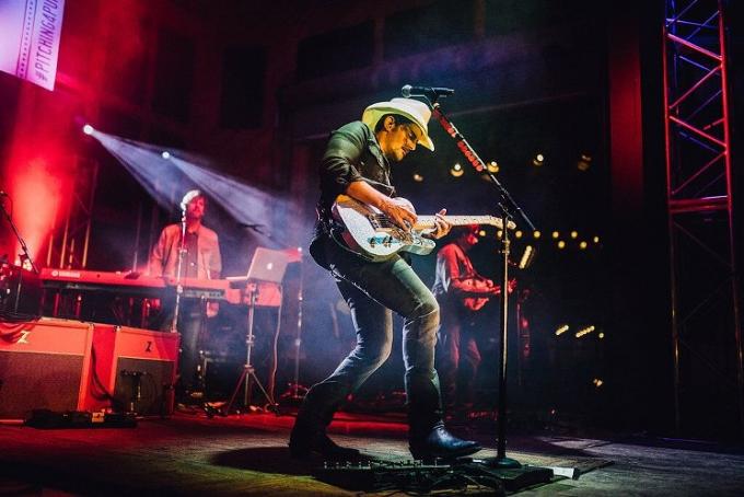
<svg viewBox="0 0 744 497">
<path fill-rule="evenodd" d="M 178 334 L 127 326 L 96 325 L 96 378 L 105 381 L 116 411 L 146 416 L 173 413 Z M 89 409 L 100 407 L 89 397 Z"/>
</svg>

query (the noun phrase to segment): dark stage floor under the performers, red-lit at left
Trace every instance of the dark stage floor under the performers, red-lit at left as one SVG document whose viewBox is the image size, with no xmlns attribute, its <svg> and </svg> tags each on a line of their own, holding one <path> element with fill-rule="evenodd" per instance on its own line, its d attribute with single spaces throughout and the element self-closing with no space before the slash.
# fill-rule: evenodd
<svg viewBox="0 0 744 497">
<path fill-rule="evenodd" d="M 144 419 L 136 428 L 0 425 L 0 495 L 356 495 L 312 476 L 321 459 L 290 459 L 287 439 L 293 419 L 198 413 Z M 339 443 L 372 459 L 409 459 L 399 418 L 341 414 L 330 431 Z M 488 447 L 477 456 L 496 454 L 493 437 L 483 427 L 455 431 Z M 509 438 L 508 455 L 578 475 L 518 492 L 525 496 L 744 492 L 744 451 L 706 443 L 519 435 Z M 466 494 L 484 489 L 470 486 Z"/>
</svg>

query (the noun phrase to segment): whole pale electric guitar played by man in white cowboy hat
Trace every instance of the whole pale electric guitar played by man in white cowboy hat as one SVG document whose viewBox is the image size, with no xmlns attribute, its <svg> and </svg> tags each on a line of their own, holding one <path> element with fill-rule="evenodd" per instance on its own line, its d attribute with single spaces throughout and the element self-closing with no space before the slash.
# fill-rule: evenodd
<svg viewBox="0 0 744 497">
<path fill-rule="evenodd" d="M 334 219 L 342 226 L 344 244 L 370 261 L 385 261 L 397 252 L 427 255 L 437 244 L 423 234 L 437 230 L 434 216 L 419 216 L 410 231 L 398 228 L 379 209 L 347 195 L 339 195 L 332 208 Z M 501 218 L 493 216 L 444 216 L 453 226 L 489 224 L 503 228 Z M 515 224 L 509 222 L 509 229 Z"/>
</svg>

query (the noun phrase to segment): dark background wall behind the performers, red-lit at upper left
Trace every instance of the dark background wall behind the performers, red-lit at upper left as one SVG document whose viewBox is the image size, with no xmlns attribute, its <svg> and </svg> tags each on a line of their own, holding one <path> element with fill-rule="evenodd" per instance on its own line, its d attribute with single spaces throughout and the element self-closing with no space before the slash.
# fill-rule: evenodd
<svg viewBox="0 0 744 497">
<path fill-rule="evenodd" d="M 79 136 L 81 123 L 199 153 L 224 174 L 293 198 L 299 213 L 283 220 L 284 229 L 292 244 L 305 246 L 328 131 L 359 118 L 370 103 L 397 96 L 403 84 L 451 86 L 456 92 L 443 107 L 481 157 L 498 162 L 499 178 L 542 233 L 535 239 L 524 232 L 513 246 L 521 254 L 530 241 L 537 250 L 534 265 L 515 271 L 527 291 L 520 293 L 521 311 L 531 336 L 530 355 L 520 347 L 524 342 L 514 340 L 512 350 L 521 358 L 512 375 L 518 406 L 566 412 L 584 423 L 670 429 L 661 4 L 67 3 L 55 92 L 0 74 L 0 160 L 3 177 L 23 166 L 12 151 L 39 124 L 21 116 L 40 106 L 55 123 L 49 132 L 63 143 L 58 157 L 98 162 L 89 268 L 128 268 L 135 254 L 146 259 L 153 236 L 177 212 L 175 203 L 172 209 L 156 206 L 105 150 Z M 741 86 L 741 77 L 734 84 Z M 422 213 L 440 207 L 496 213 L 492 186 L 468 169 L 435 123 L 430 128 L 437 152 L 419 150 L 395 167 L 400 193 Z M 538 152 L 545 163 L 535 166 Z M 590 159 L 583 165 L 582 155 Z M 449 172 L 455 162 L 465 166 L 456 178 Z M 60 160 L 59 167 L 69 163 Z M 181 194 L 174 185 L 172 197 Z M 207 224 L 220 232 L 225 274 L 244 273 L 259 243 L 255 233 L 214 204 Z M 12 252 L 12 239 L 3 234 L 3 252 Z M 559 240 L 566 248 L 558 248 Z M 497 276 L 495 230 L 486 230 L 476 263 Z M 431 282 L 432 257 L 416 266 Z M 353 336 L 329 277 L 312 261 L 290 267 L 287 294 L 297 293 L 300 273 L 301 379 L 310 383 L 333 368 Z M 484 315 L 496 323 L 496 305 L 489 307 Z M 297 302 L 288 299 L 280 374 L 292 359 L 287 344 L 297 332 L 295 312 Z M 571 333 L 556 336 L 561 324 L 570 324 Z M 596 332 L 572 336 L 586 325 Z M 485 366 L 495 373 L 496 326 L 484 327 Z M 367 393 L 400 389 L 399 368 L 398 355 Z M 483 379 L 485 389 L 492 383 L 492 377 Z"/>
</svg>

